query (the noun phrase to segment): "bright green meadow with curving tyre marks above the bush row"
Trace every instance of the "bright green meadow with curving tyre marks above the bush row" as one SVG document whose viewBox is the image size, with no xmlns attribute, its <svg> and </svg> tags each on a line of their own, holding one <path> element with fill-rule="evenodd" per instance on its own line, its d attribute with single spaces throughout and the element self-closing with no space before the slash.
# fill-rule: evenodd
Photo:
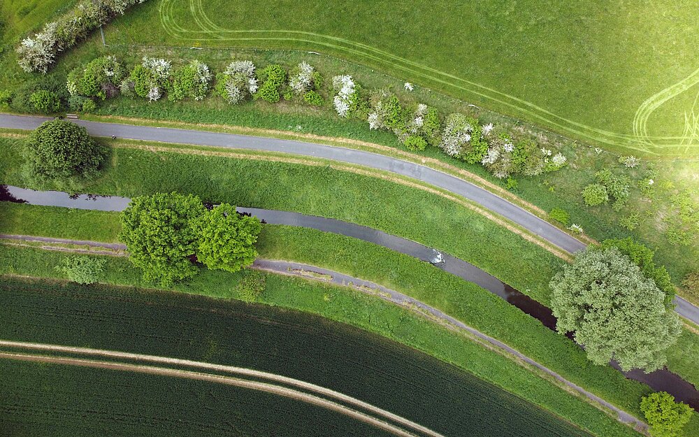
<svg viewBox="0 0 699 437">
<path fill-rule="evenodd" d="M 113 45 L 315 50 L 616 150 L 696 155 L 694 6 L 152 0 L 107 36 Z"/>
</svg>

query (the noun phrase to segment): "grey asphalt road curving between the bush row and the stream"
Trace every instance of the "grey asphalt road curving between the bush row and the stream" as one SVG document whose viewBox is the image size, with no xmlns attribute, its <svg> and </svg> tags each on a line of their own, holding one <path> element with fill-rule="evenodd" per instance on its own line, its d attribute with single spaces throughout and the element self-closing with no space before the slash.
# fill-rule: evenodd
<svg viewBox="0 0 699 437">
<path fill-rule="evenodd" d="M 20 115 L 0 114 L 0 127 L 10 129 L 34 129 L 39 124 L 51 120 L 47 117 L 28 117 Z M 160 141 L 164 143 L 186 143 L 194 145 L 210 145 L 224 148 L 249 150 L 268 150 L 285 152 L 294 155 L 305 155 L 333 159 L 340 162 L 359 164 L 373 169 L 380 169 L 422 180 L 431 185 L 447 189 L 475 201 L 485 208 L 506 217 L 528 231 L 537 234 L 550 243 L 568 252 L 577 252 L 586 247 L 577 240 L 552 224 L 541 220 L 519 206 L 493 194 L 486 189 L 461 180 L 452 175 L 431 169 L 427 166 L 387 157 L 377 153 L 363 152 L 330 145 L 303 143 L 301 141 L 281 140 L 277 138 L 261 138 L 218 132 L 196 131 L 189 129 L 171 129 L 161 127 L 135 126 L 131 124 L 115 124 L 74 120 L 87 128 L 94 136 L 112 136 L 136 140 Z M 675 310 L 682 317 L 699 324 L 699 308 L 677 296 L 674 300 Z"/>
</svg>

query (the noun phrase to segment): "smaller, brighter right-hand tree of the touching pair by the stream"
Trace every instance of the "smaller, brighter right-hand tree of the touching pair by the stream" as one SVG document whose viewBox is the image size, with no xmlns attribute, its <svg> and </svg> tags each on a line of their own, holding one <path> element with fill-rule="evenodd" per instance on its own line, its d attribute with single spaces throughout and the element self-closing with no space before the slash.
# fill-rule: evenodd
<svg viewBox="0 0 699 437">
<path fill-rule="evenodd" d="M 236 213 L 235 206 L 216 206 L 202 217 L 197 229 L 196 257 L 208 268 L 239 271 L 257 258 L 254 244 L 262 229 L 260 221 Z"/>
</svg>

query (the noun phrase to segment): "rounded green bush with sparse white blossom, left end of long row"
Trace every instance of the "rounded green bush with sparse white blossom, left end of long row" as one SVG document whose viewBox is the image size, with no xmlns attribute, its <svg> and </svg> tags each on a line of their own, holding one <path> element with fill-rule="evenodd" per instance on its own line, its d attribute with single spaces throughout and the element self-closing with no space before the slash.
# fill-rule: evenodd
<svg viewBox="0 0 699 437">
<path fill-rule="evenodd" d="M 116 96 L 126 76 L 124 66 L 113 56 L 103 56 L 88 62 L 84 69 L 68 73 L 66 88 L 71 96 L 80 95 L 101 100 Z"/>
</svg>

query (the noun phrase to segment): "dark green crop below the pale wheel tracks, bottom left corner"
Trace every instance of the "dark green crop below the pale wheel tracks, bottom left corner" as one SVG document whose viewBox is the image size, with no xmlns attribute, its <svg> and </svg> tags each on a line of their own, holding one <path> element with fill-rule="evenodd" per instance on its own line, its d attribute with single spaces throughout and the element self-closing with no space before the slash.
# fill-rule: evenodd
<svg viewBox="0 0 699 437">
<path fill-rule="evenodd" d="M 391 436 L 339 413 L 212 382 L 6 359 L 0 372 L 3 436 Z"/>
</svg>

